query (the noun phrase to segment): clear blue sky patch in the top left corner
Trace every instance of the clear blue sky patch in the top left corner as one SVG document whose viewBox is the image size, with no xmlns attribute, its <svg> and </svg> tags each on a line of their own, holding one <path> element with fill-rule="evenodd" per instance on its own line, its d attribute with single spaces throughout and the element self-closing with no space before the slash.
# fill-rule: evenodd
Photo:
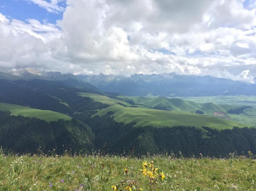
<svg viewBox="0 0 256 191">
<path fill-rule="evenodd" d="M 47 0 L 50 2 L 49 0 Z M 60 2 L 60 6 L 66 7 L 65 2 Z M 18 19 L 26 21 L 27 19 L 36 19 L 55 24 L 57 20 L 62 19 L 63 13 L 50 13 L 47 9 L 38 6 L 35 3 L 25 0 L 1 0 L 0 13 L 9 19 Z"/>
</svg>

